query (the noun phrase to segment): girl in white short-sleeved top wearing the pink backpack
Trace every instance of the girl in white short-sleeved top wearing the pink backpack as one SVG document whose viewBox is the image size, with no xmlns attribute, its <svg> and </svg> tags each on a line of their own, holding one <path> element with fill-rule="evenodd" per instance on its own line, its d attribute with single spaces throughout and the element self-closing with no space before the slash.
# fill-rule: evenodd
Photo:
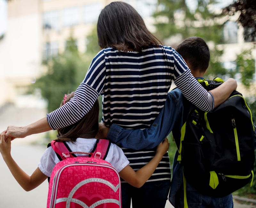
<svg viewBox="0 0 256 208">
<path fill-rule="evenodd" d="M 75 92 L 65 95 L 61 106 L 67 104 L 74 97 Z M 91 152 L 96 143 L 95 136 L 98 133 L 98 117 L 99 117 L 99 102 L 93 104 L 92 109 L 78 122 L 68 127 L 58 129 L 57 141 L 67 141 L 69 148 L 72 151 Z M 60 160 L 56 156 L 52 147 L 45 150 L 38 168 L 29 176 L 26 174 L 12 159 L 11 156 L 11 138 L 7 143 L 4 141 L 5 131 L 1 133 L 0 152 L 5 163 L 10 169 L 13 177 L 17 180 L 20 186 L 30 191 L 39 186 L 47 177 L 51 176 L 52 170 Z M 119 172 L 119 175 L 134 187 L 140 188 L 155 171 L 157 165 L 161 161 L 163 155 L 167 152 L 169 142 L 165 139 L 156 148 L 156 155 L 152 160 L 138 171 L 132 170 L 128 165 L 124 152 L 115 144 L 111 144 L 106 161 L 113 165 Z M 79 155 L 79 154 L 76 154 Z"/>
</svg>

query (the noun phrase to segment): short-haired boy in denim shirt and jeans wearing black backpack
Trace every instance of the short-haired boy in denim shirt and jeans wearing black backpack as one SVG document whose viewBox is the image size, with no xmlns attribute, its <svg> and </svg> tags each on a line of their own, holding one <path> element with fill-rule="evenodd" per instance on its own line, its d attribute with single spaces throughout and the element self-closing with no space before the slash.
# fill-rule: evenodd
<svg viewBox="0 0 256 208">
<path fill-rule="evenodd" d="M 200 37 L 190 37 L 178 45 L 176 51 L 182 56 L 196 79 L 204 79 L 203 75 L 209 66 L 210 50 L 204 40 Z M 149 129 L 124 130 L 116 124 L 111 128 L 102 128 L 102 133 L 114 143 L 120 143 L 124 148 L 138 149 L 153 148 L 160 143 L 171 131 L 173 137 L 180 138 L 180 129 L 183 121 L 186 120 L 188 112 L 186 110 L 187 101 L 179 89 L 174 89 L 168 93 L 164 108 L 159 113 L 155 122 Z M 183 105 L 185 104 L 185 105 Z M 103 126 L 104 124 L 100 124 Z M 107 133 L 109 129 L 109 132 Z M 184 190 L 182 167 L 177 162 L 178 152 L 173 161 L 172 185 L 169 201 L 174 207 L 184 207 Z M 187 203 L 188 207 L 227 207 L 233 208 L 232 195 L 214 198 L 198 192 L 187 182 Z"/>
</svg>

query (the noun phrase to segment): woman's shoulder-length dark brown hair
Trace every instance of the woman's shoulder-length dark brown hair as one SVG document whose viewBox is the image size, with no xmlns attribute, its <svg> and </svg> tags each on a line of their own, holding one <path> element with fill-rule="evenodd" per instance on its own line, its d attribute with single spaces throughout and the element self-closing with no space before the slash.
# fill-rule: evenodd
<svg viewBox="0 0 256 208">
<path fill-rule="evenodd" d="M 149 45 L 159 45 L 159 40 L 148 31 L 140 14 L 124 2 L 105 6 L 100 12 L 97 33 L 100 48 L 112 47 L 119 52 L 129 49 L 142 52 Z"/>
</svg>

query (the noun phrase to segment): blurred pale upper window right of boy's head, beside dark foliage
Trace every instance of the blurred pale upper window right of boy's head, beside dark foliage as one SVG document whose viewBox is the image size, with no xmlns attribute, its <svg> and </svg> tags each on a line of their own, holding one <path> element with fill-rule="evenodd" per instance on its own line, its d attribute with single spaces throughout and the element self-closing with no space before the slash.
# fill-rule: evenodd
<svg viewBox="0 0 256 208">
<path fill-rule="evenodd" d="M 237 23 L 227 21 L 224 24 L 223 35 L 225 43 L 237 43 Z"/>
</svg>

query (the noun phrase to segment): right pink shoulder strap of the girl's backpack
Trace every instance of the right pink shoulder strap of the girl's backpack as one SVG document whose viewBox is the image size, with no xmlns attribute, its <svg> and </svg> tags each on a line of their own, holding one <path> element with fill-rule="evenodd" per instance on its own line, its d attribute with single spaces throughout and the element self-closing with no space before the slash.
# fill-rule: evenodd
<svg viewBox="0 0 256 208">
<path fill-rule="evenodd" d="M 109 140 L 97 140 L 94 148 L 92 149 L 92 157 L 105 160 L 108 155 L 111 142 Z"/>
</svg>

